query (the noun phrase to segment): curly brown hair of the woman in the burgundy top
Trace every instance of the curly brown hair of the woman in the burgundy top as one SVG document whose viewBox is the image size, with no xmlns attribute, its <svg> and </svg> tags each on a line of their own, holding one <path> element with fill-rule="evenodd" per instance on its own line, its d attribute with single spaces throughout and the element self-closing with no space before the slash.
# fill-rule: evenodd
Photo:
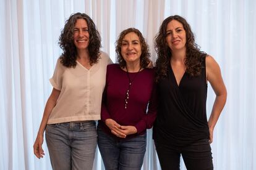
<svg viewBox="0 0 256 170">
<path fill-rule="evenodd" d="M 119 37 L 116 41 L 117 62 L 119 63 L 119 66 L 121 68 L 126 67 L 126 61 L 124 60 L 121 54 L 122 39 L 124 39 L 124 36 L 126 36 L 126 34 L 132 33 L 132 32 L 137 34 L 137 36 L 139 36 L 139 39 L 140 39 L 140 44 L 142 49 L 142 55 L 140 55 L 140 67 L 146 68 L 148 63 L 150 63 L 149 47 L 147 42 L 145 41 L 145 38 L 143 38 L 142 33 L 140 33 L 140 31 L 136 28 L 128 28 L 119 34 Z"/>
</svg>

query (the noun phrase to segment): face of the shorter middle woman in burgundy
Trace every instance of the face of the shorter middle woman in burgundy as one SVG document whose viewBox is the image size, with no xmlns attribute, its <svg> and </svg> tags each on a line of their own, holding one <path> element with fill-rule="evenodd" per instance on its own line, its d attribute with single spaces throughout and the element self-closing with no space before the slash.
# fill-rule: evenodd
<svg viewBox="0 0 256 170">
<path fill-rule="evenodd" d="M 139 36 L 130 32 L 122 39 L 121 54 L 126 63 L 140 62 L 140 55 L 142 55 L 142 47 Z"/>
</svg>

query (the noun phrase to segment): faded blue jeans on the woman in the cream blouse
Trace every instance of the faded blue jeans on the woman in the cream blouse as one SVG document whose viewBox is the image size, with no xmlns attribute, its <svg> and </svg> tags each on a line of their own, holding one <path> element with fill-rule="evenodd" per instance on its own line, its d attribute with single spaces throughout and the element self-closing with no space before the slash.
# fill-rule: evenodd
<svg viewBox="0 0 256 170">
<path fill-rule="evenodd" d="M 97 145 L 95 121 L 48 124 L 45 137 L 54 170 L 92 169 Z"/>
</svg>

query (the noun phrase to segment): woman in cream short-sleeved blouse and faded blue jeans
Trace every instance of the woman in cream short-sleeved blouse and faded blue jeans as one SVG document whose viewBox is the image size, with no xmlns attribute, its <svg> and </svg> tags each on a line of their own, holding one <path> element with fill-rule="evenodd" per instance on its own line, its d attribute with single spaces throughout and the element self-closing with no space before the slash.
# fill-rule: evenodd
<svg viewBox="0 0 256 170">
<path fill-rule="evenodd" d="M 86 14 L 70 15 L 59 37 L 63 53 L 53 77 L 33 146 L 37 158 L 46 143 L 53 169 L 92 169 L 97 144 L 95 120 L 100 119 L 106 66 L 111 62 L 100 51 L 101 38 Z"/>
</svg>

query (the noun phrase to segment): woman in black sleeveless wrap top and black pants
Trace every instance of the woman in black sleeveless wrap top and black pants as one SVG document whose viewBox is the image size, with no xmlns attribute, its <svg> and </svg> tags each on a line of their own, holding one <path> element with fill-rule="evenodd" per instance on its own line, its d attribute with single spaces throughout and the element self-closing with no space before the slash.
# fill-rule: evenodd
<svg viewBox="0 0 256 170">
<path fill-rule="evenodd" d="M 155 38 L 158 116 L 153 139 L 162 169 L 213 169 L 210 143 L 226 103 L 226 87 L 213 57 L 199 50 L 189 24 L 166 18 Z M 207 121 L 207 82 L 216 94 Z"/>
</svg>

